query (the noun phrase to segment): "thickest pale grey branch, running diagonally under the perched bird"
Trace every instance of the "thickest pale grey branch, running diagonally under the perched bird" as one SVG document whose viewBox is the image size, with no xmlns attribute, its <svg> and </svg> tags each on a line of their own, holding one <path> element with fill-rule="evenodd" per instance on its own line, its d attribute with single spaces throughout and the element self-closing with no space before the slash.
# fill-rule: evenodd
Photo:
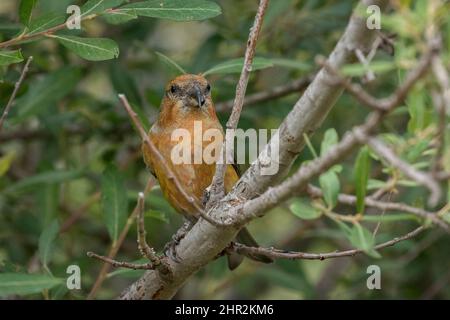
<svg viewBox="0 0 450 320">
<path fill-rule="evenodd" d="M 387 0 L 362 0 L 357 10 L 366 11 L 367 6 L 372 4 L 383 9 L 387 2 Z M 353 14 L 328 63 L 339 69 L 340 66 L 354 61 L 354 49 L 361 48 L 363 52 L 370 50 L 375 36 L 376 32 L 366 28 L 365 19 Z M 234 189 L 220 201 L 220 206 L 211 212 L 212 217 L 228 216 L 235 206 L 239 207 L 243 201 L 264 192 L 268 186 L 284 177 L 303 148 L 303 134 L 312 133 L 320 126 L 342 93 L 343 88 L 329 85 L 327 81 L 329 77 L 329 73 L 322 68 L 281 124 L 277 137 L 272 137 L 280 140 L 278 173 L 270 176 L 261 175 L 262 162 L 270 155 L 269 147 L 266 147 Z M 170 299 L 192 274 L 215 259 L 230 244 L 238 230 L 239 228 L 231 226 L 218 228 L 200 219 L 178 244 L 179 261 L 175 263 L 169 260 L 173 271 L 171 281 L 166 281 L 154 271 L 148 271 L 124 290 L 120 298 Z"/>
</svg>

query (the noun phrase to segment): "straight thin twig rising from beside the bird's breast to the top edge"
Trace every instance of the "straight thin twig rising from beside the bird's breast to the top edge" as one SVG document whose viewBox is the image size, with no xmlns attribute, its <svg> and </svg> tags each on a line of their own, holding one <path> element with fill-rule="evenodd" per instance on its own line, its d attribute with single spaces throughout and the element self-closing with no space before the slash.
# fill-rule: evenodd
<svg viewBox="0 0 450 320">
<path fill-rule="evenodd" d="M 247 48 L 245 50 L 244 65 L 242 66 L 239 82 L 236 86 L 236 95 L 234 98 L 233 109 L 226 125 L 225 139 L 220 151 L 220 158 L 216 164 L 216 171 L 212 179 L 211 185 L 208 187 L 209 201 L 206 204 L 207 210 L 212 208 L 225 195 L 225 172 L 228 163 L 233 162 L 233 143 L 234 130 L 237 128 L 239 118 L 241 116 L 242 107 L 244 105 L 245 92 L 247 90 L 248 79 L 252 71 L 253 57 L 256 51 L 256 43 L 261 31 L 264 14 L 267 9 L 269 0 L 260 0 L 258 11 L 256 12 L 253 27 L 250 29 L 248 36 Z M 228 134 L 231 133 L 231 134 Z"/>
</svg>

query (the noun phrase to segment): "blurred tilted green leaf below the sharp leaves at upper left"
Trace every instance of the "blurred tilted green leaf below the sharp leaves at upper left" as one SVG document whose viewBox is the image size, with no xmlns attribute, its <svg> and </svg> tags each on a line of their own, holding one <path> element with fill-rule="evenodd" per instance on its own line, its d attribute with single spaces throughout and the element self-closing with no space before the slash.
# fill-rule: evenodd
<svg viewBox="0 0 450 320">
<path fill-rule="evenodd" d="M 69 94 L 80 78 L 79 69 L 65 67 L 45 75 L 40 81 L 33 82 L 28 92 L 17 99 L 18 115 L 14 121 L 18 123 L 44 112 L 53 103 Z"/>
</svg>

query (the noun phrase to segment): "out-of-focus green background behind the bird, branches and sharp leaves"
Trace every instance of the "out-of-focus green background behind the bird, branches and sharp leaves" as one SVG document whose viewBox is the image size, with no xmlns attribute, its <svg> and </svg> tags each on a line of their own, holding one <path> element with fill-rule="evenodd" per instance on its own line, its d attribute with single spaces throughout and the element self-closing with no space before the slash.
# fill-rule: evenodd
<svg viewBox="0 0 450 320">
<path fill-rule="evenodd" d="M 87 251 L 107 254 L 111 238 L 105 226 L 101 205 L 102 178 L 111 164 L 126 190 L 126 212 L 133 209 L 137 194 L 143 190 L 149 172 L 141 158 L 140 138 L 132 128 L 117 94 L 125 93 L 139 110 L 146 125 L 158 113 L 164 85 L 176 75 L 158 57 L 161 52 L 191 73 L 233 58 L 242 57 L 248 31 L 253 23 L 256 1 L 216 1 L 222 14 L 205 21 L 175 22 L 139 17 L 126 24 L 110 25 L 102 18 L 83 23 L 86 37 L 105 37 L 118 43 L 117 59 L 90 62 L 52 39 L 21 44 L 24 57 L 32 55 L 24 84 L 5 126 L 0 132 L 0 272 L 49 274 L 66 277 L 68 265 L 81 268 L 81 290 L 68 291 L 63 285 L 49 291 L 24 295 L 30 299 L 84 299 L 101 268 Z M 389 68 L 376 72 L 375 81 L 366 85 L 378 97 L 389 95 L 405 68 L 423 49 L 426 25 L 423 8 L 427 1 L 393 1 L 386 16 L 387 34 L 396 33 L 395 53 L 380 50 L 375 61 Z M 69 4 L 84 1 L 42 0 L 33 15 L 65 13 Z M 273 66 L 255 71 L 247 94 L 288 84 L 318 70 L 317 55 L 327 56 L 342 35 L 355 1 L 280 0 L 269 5 L 257 56 L 271 59 Z M 0 41 L 16 35 L 22 28 L 17 0 L 0 2 Z M 394 10 L 395 9 L 395 10 Z M 449 66 L 450 15 L 444 7 L 439 28 L 444 39 L 443 59 Z M 425 10 L 426 11 L 426 10 Z M 23 64 L 0 67 L 0 105 L 5 106 Z M 357 76 L 361 75 L 361 68 Z M 364 70 L 363 70 L 364 71 Z M 359 74 L 358 74 L 359 72 Z M 224 102 L 234 97 L 239 74 L 211 74 L 213 100 Z M 357 77 L 357 81 L 360 77 Z M 427 86 L 422 81 L 411 105 L 398 109 L 383 123 L 387 141 L 405 155 L 418 141 L 426 141 L 414 163 L 429 165 L 426 153 L 432 150 L 436 128 Z M 244 107 L 241 128 L 275 129 L 291 110 L 301 92 L 258 105 Z M 415 108 L 415 109 L 413 109 Z M 414 113 L 416 112 L 416 113 Z M 417 114 L 418 116 L 414 116 Z M 311 137 L 320 150 L 324 133 L 335 128 L 339 136 L 360 123 L 368 109 L 344 94 L 321 128 Z M 225 123 L 229 112 L 221 112 Z M 448 131 L 448 130 L 447 130 Z M 447 132 L 448 133 L 448 132 Z M 450 150 L 447 139 L 447 154 Z M 417 150 L 416 150 L 417 151 Z M 430 151 L 431 152 L 431 151 Z M 354 194 L 355 155 L 343 163 L 339 173 L 341 191 Z M 313 158 L 305 148 L 293 168 Z M 447 159 L 450 159 L 450 155 Z M 395 172 L 380 161 L 372 160 L 371 179 L 387 181 Z M 450 161 L 449 161 L 450 162 Z M 317 181 L 314 181 L 318 185 Z M 392 200 L 424 206 L 427 191 L 421 187 L 398 184 Z M 369 191 L 370 192 L 370 191 Z M 442 200 L 448 201 L 448 199 Z M 327 218 L 303 220 L 294 215 L 289 201 L 264 218 L 252 222 L 249 229 L 263 246 L 305 252 L 328 252 L 352 245 L 336 223 Z M 182 224 L 182 219 L 163 199 L 158 188 L 146 198 L 148 241 L 161 250 Z M 335 212 L 354 214 L 355 209 L 338 205 Z M 366 214 L 379 211 L 366 209 Z M 387 212 L 385 215 L 389 215 Z M 76 217 L 73 223 L 67 222 Z M 58 221 L 63 230 L 55 235 L 46 266 L 39 253 L 42 233 Z M 422 221 L 387 221 L 381 224 L 377 242 L 409 232 Z M 376 223 L 365 222 L 372 230 Z M 67 228 L 65 228 L 67 227 Z M 48 230 L 48 229 L 47 229 Z M 326 261 L 286 261 L 260 265 L 245 260 L 230 272 L 223 258 L 210 263 L 190 279 L 176 298 L 181 299 L 393 299 L 450 298 L 450 238 L 438 228 L 380 251 L 381 258 L 369 255 Z M 117 255 L 118 260 L 139 259 L 135 224 Z M 382 271 L 382 289 L 368 290 L 366 269 L 376 264 Z M 97 298 L 115 298 L 142 272 L 117 270 L 108 275 Z M 9 298 L 18 297 L 7 295 Z"/>
</svg>

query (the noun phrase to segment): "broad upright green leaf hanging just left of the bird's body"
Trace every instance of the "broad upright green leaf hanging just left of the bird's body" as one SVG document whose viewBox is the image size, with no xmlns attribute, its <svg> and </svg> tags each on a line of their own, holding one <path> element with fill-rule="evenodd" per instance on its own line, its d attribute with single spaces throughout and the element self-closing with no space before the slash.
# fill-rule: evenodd
<svg viewBox="0 0 450 320">
<path fill-rule="evenodd" d="M 116 241 L 127 220 L 127 190 L 114 165 L 109 165 L 103 172 L 102 206 L 109 235 Z"/>
</svg>

